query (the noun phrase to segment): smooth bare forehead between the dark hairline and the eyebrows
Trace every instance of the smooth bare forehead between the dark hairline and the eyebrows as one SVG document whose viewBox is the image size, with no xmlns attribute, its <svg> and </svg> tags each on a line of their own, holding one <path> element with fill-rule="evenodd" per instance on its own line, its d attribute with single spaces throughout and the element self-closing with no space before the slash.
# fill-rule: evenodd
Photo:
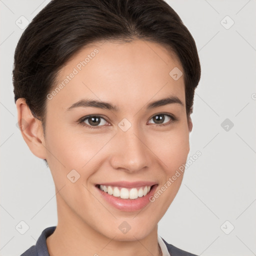
<svg viewBox="0 0 256 256">
<path fill-rule="evenodd" d="M 50 104 L 67 108 L 82 98 L 134 104 L 152 97 L 173 94 L 184 97 L 183 75 L 174 80 L 170 72 L 178 59 L 168 48 L 149 41 L 101 41 L 79 50 L 61 68 L 55 87 L 62 84 Z"/>
</svg>

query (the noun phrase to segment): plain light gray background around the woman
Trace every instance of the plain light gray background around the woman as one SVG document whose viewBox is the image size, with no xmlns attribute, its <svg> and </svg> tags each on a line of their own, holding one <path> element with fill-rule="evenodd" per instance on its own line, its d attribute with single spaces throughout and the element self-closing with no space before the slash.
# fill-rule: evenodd
<svg viewBox="0 0 256 256">
<path fill-rule="evenodd" d="M 13 53 L 23 31 L 15 21 L 21 15 L 30 21 L 48 2 L 0 0 L 0 255 L 21 254 L 44 228 L 57 223 L 50 170 L 30 152 L 16 126 L 11 80 Z M 256 0 L 167 2 L 199 51 L 202 74 L 188 157 L 197 150 L 202 155 L 186 169 L 158 233 L 198 255 L 256 255 Z M 224 27 L 231 24 L 226 15 L 234 21 L 229 29 Z M 221 126 L 226 118 L 234 124 L 228 131 Z M 21 220 L 29 225 L 24 234 L 15 229 Z"/>
</svg>

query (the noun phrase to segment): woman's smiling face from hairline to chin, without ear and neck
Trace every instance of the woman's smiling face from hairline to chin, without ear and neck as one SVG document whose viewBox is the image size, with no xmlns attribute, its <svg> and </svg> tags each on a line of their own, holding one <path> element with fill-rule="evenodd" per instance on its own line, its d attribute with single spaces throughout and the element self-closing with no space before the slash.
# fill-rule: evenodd
<svg viewBox="0 0 256 256">
<path fill-rule="evenodd" d="M 183 72 L 165 47 L 133 40 L 86 47 L 60 70 L 42 141 L 58 222 L 117 240 L 141 239 L 156 228 L 189 152 L 184 79 L 173 79 L 173 68 Z"/>
</svg>

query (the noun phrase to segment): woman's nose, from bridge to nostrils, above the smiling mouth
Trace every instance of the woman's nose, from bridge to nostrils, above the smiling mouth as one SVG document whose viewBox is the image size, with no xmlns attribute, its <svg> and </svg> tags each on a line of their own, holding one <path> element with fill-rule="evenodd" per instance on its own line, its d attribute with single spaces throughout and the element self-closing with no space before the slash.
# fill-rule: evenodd
<svg viewBox="0 0 256 256">
<path fill-rule="evenodd" d="M 110 164 L 115 169 L 135 172 L 146 169 L 151 164 L 152 152 L 146 145 L 146 138 L 134 126 L 127 131 L 118 129 L 114 137 Z"/>
</svg>

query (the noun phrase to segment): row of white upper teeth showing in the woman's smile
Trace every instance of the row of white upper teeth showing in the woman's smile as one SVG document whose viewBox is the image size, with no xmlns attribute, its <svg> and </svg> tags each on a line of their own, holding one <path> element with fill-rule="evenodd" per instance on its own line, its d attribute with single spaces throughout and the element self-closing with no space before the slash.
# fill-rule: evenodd
<svg viewBox="0 0 256 256">
<path fill-rule="evenodd" d="M 151 186 L 143 186 L 143 187 L 139 187 L 139 188 L 126 188 L 126 187 L 122 187 L 121 189 L 119 189 L 118 187 L 112 187 L 112 186 L 107 186 L 107 185 L 99 185 L 100 190 L 113 195 L 115 197 L 120 197 L 122 199 L 136 199 L 138 197 L 142 197 L 144 195 L 146 195 Z"/>
</svg>

